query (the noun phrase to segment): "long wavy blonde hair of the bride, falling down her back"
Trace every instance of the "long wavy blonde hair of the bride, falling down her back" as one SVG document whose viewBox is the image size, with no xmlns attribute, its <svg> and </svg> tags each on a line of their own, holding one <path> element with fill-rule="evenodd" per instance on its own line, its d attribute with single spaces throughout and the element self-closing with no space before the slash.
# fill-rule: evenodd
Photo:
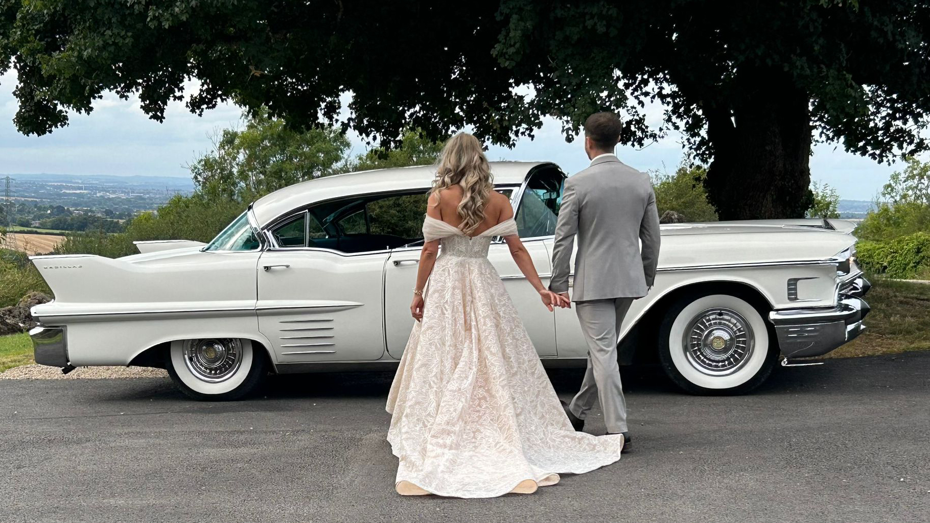
<svg viewBox="0 0 930 523">
<path fill-rule="evenodd" d="M 485 221 L 485 203 L 494 190 L 494 182 L 481 142 L 468 133 L 458 133 L 445 142 L 430 194 L 435 194 L 438 201 L 440 191 L 454 185 L 462 187 L 462 201 L 457 209 L 462 223 L 458 229 L 471 234 Z"/>
</svg>

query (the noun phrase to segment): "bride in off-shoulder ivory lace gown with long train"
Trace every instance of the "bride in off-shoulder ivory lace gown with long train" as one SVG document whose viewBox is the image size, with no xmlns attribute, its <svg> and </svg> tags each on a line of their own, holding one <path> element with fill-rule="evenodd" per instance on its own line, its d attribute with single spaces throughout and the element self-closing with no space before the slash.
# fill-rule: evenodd
<svg viewBox="0 0 930 523">
<path fill-rule="evenodd" d="M 511 203 L 493 190 L 472 135 L 445 144 L 423 235 L 410 306 L 417 323 L 387 405 L 388 441 L 400 459 L 397 491 L 460 498 L 531 493 L 557 483 L 559 473 L 616 462 L 623 436 L 575 431 L 487 260 L 491 239 L 502 236 L 543 305 L 568 305 L 539 281 Z"/>
</svg>

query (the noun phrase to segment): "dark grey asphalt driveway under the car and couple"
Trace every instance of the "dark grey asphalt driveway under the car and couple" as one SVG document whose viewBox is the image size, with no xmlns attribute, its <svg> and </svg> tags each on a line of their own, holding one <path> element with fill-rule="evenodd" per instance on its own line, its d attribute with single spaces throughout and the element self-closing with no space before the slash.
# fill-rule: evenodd
<svg viewBox="0 0 930 523">
<path fill-rule="evenodd" d="M 581 373 L 551 377 L 568 399 Z M 394 492 L 386 373 L 280 376 L 233 403 L 166 379 L 0 380 L 0 521 L 930 520 L 930 352 L 779 369 L 734 398 L 624 380 L 635 452 L 491 500 Z"/>
</svg>

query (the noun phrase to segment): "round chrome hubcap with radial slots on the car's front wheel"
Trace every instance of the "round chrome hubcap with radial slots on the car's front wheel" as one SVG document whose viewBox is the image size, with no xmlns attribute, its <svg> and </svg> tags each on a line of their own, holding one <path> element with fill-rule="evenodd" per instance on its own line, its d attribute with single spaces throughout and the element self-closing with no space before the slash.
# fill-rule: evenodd
<svg viewBox="0 0 930 523">
<path fill-rule="evenodd" d="M 683 342 L 684 356 L 697 371 L 732 374 L 750 359 L 752 328 L 735 310 L 709 308 L 688 323 Z"/>
</svg>

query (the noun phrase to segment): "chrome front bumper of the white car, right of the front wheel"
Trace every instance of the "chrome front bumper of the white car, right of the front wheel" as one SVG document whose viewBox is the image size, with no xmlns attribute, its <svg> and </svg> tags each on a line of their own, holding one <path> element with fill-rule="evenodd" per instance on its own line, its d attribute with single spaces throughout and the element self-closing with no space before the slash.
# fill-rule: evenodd
<svg viewBox="0 0 930 523">
<path fill-rule="evenodd" d="M 868 280 L 859 277 L 840 289 L 836 307 L 793 308 L 769 313 L 781 354 L 788 359 L 820 356 L 856 338 L 865 330 L 862 319 L 870 307 L 861 296 L 869 292 L 870 287 Z"/>
</svg>

